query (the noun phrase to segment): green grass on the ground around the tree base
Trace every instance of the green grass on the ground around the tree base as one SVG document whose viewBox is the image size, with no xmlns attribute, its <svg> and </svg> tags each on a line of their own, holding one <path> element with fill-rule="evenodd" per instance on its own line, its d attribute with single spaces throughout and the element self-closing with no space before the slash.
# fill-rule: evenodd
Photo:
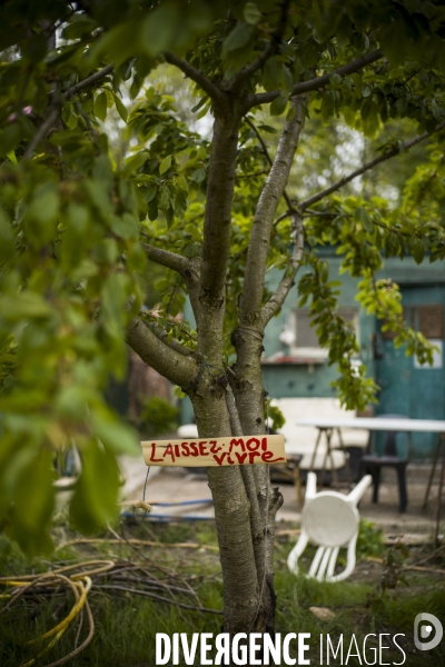
<svg viewBox="0 0 445 667">
<path fill-rule="evenodd" d="M 281 525 L 280 525 L 281 527 Z M 145 548 L 142 554 L 149 558 L 145 560 L 147 568 L 156 571 L 157 567 L 166 571 L 176 573 L 181 580 L 186 580 L 198 593 L 205 607 L 221 609 L 222 584 L 218 554 L 205 548 L 206 545 L 216 545 L 216 531 L 212 522 L 197 524 L 169 524 L 140 526 L 126 524 L 123 526 L 127 538 L 156 539 L 165 544 L 194 541 L 202 545 L 200 549 L 174 548 Z M 56 529 L 56 539 L 63 541 L 76 537 L 65 527 Z M 445 664 L 445 646 L 432 651 L 418 651 L 413 640 L 413 623 L 421 611 L 428 611 L 445 620 L 444 577 L 434 573 L 406 574 L 406 584 L 397 581 L 395 589 L 382 591 L 379 587 L 383 567 L 375 561 L 360 560 L 356 571 L 347 581 L 338 584 L 320 584 L 305 577 L 294 577 L 286 567 L 286 558 L 295 544 L 295 536 L 278 537 L 276 548 L 276 591 L 277 601 L 277 631 L 310 633 L 310 664 L 319 665 L 319 637 L 328 634 L 336 645 L 340 635 L 344 636 L 344 661 L 330 658 L 330 665 L 347 664 L 360 665 L 357 657 L 349 657 L 346 663 L 347 648 L 352 635 L 355 635 L 363 659 L 363 639 L 369 634 L 405 634 L 399 638 L 399 644 L 406 653 L 408 667 L 427 666 L 436 667 Z M 362 528 L 359 555 L 375 557 L 380 554 L 388 559 L 387 550 L 382 548 L 382 539 L 369 525 Z M 308 551 L 303 565 L 310 563 L 312 552 Z M 425 557 L 418 549 L 404 557 L 413 559 Z M 29 571 L 46 571 L 50 567 L 60 566 L 67 561 L 81 561 L 91 558 L 111 558 L 113 560 L 141 558 L 135 548 L 127 544 L 116 545 L 108 541 L 88 545 L 75 545 L 59 549 L 48 560 L 26 561 L 14 549 L 7 558 L 0 561 L 0 575 L 11 575 L 11 568 L 17 575 Z M 438 558 L 428 561 L 435 567 L 444 567 Z M 397 568 L 396 568 L 397 570 Z M 398 570 L 397 570 L 398 571 Z M 400 573 L 398 573 L 399 575 Z M 396 578 L 398 577 L 396 573 Z M 174 576 L 174 575 L 171 575 Z M 76 667 L 151 667 L 155 665 L 155 635 L 156 633 L 214 633 L 221 631 L 222 617 L 202 614 L 176 606 L 159 603 L 149 598 L 138 597 L 132 594 L 116 591 L 101 591 L 95 585 L 89 594 L 91 610 L 96 621 L 96 633 L 92 643 L 69 665 Z M 1 603 L 0 603 L 1 605 Z M 46 629 L 53 627 L 63 618 L 72 599 L 60 591 L 60 595 L 46 596 L 37 600 L 27 599 L 26 604 L 17 603 L 9 611 L 0 617 L 0 665 L 1 667 L 19 667 L 30 656 L 36 655 L 33 647 L 26 647 L 27 640 L 41 635 Z M 333 616 L 328 620 L 320 620 L 310 610 L 310 607 L 328 608 Z M 68 653 L 75 645 L 77 625 L 72 624 L 67 634 L 56 644 L 51 651 L 36 667 L 48 665 Z M 82 637 L 86 630 L 82 631 Z M 368 640 L 369 649 L 375 646 L 373 638 Z M 382 664 L 402 663 L 403 656 L 397 647 L 385 649 Z M 373 663 L 373 653 L 366 656 Z M 363 660 L 364 663 L 364 660 Z M 197 665 L 199 661 L 196 663 Z M 377 660 L 377 664 L 379 661 Z"/>
</svg>

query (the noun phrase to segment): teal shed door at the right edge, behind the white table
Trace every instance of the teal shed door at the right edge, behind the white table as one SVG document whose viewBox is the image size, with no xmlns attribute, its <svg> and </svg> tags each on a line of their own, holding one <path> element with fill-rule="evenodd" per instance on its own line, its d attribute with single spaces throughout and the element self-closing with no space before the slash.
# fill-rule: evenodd
<svg viewBox="0 0 445 667">
<path fill-rule="evenodd" d="M 445 419 L 445 286 L 405 287 L 402 289 L 405 319 L 434 342 L 433 367 L 421 366 L 396 349 L 390 334 L 378 331 L 376 381 L 380 386 L 376 414 L 406 415 L 413 419 Z M 431 458 L 437 434 L 413 434 L 412 458 Z"/>
</svg>

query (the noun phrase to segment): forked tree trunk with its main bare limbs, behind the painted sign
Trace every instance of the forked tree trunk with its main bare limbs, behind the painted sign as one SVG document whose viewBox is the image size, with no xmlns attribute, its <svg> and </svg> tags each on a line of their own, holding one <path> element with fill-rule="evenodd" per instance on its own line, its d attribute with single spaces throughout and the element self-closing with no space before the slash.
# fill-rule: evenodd
<svg viewBox="0 0 445 667">
<path fill-rule="evenodd" d="M 128 331 L 131 347 L 192 402 L 199 437 L 266 432 L 260 358 L 265 319 L 261 301 L 267 251 L 277 206 L 284 193 L 303 126 L 304 99 L 295 98 L 294 117 L 286 122 L 277 156 L 258 202 L 249 243 L 239 326 L 234 334 L 237 362 L 233 376 L 222 364 L 226 271 L 230 252 L 231 207 L 238 133 L 246 96 L 220 91 L 215 96 L 215 126 L 210 155 L 202 258 L 196 266 L 172 253 L 147 247 L 154 261 L 179 271 L 189 283 L 198 329 L 198 349 L 185 356 L 140 321 Z M 298 241 L 299 242 L 299 241 Z M 187 262 L 187 260 L 186 260 Z M 293 270 L 298 261 L 294 253 Z M 267 310 L 284 299 L 291 280 L 284 278 Z M 162 368 L 160 368 L 162 367 Z M 231 394 L 228 380 L 233 387 Z M 266 465 L 221 466 L 208 469 L 224 578 L 224 627 L 231 634 L 275 633 L 274 524 L 283 502 L 269 481 Z"/>
</svg>

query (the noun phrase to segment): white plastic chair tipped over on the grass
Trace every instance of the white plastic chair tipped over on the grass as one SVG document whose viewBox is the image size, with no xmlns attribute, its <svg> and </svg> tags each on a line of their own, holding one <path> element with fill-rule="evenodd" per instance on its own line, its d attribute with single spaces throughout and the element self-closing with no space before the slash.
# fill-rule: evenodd
<svg viewBox="0 0 445 667">
<path fill-rule="evenodd" d="M 357 505 L 372 481 L 372 476 L 366 475 L 348 496 L 336 491 L 317 494 L 317 476 L 315 472 L 308 472 L 301 532 L 287 558 L 287 566 L 294 575 L 298 574 L 298 558 L 308 542 L 318 546 L 308 577 L 318 581 L 342 581 L 353 574 L 359 524 Z M 334 575 L 342 547 L 347 549 L 346 567 L 338 575 Z"/>
</svg>

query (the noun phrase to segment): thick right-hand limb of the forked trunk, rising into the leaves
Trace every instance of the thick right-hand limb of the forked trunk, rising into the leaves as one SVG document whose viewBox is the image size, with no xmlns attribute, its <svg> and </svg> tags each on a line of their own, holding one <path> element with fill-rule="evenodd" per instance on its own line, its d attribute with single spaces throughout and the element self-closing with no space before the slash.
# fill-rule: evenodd
<svg viewBox="0 0 445 667">
<path fill-rule="evenodd" d="M 263 188 L 255 212 L 247 251 L 246 273 L 239 300 L 239 321 L 243 326 L 260 326 L 267 253 L 278 202 L 289 179 L 290 167 L 304 123 L 304 98 L 291 100 L 294 117 L 284 127 L 270 173 Z"/>
</svg>

